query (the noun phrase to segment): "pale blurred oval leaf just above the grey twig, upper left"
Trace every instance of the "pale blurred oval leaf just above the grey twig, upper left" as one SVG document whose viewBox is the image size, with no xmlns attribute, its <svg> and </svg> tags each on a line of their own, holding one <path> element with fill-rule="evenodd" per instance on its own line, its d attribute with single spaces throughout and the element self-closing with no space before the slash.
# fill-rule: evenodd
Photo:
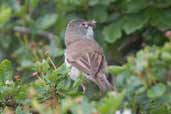
<svg viewBox="0 0 171 114">
<path fill-rule="evenodd" d="M 49 27 L 55 24 L 56 20 L 57 20 L 56 14 L 46 14 L 43 17 L 41 16 L 40 18 L 38 18 L 34 26 L 37 29 L 41 29 L 41 30 L 48 29 Z"/>
</svg>

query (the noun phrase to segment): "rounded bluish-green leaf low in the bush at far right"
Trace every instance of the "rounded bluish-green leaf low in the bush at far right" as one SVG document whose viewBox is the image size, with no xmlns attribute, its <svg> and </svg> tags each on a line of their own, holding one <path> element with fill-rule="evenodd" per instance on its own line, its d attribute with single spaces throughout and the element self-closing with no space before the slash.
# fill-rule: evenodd
<svg viewBox="0 0 171 114">
<path fill-rule="evenodd" d="M 161 97 L 165 91 L 166 91 L 166 86 L 162 83 L 159 83 L 148 89 L 147 96 L 149 98 Z"/>
</svg>

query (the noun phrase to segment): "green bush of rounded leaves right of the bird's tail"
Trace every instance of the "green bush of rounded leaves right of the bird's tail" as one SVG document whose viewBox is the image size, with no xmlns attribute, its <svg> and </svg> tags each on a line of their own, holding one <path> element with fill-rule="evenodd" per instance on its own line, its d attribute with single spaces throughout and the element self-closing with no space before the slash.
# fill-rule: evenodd
<svg viewBox="0 0 171 114">
<path fill-rule="evenodd" d="M 110 66 L 117 90 L 125 90 L 126 106 L 136 114 L 171 113 L 171 44 L 146 47 L 123 66 Z"/>
</svg>

